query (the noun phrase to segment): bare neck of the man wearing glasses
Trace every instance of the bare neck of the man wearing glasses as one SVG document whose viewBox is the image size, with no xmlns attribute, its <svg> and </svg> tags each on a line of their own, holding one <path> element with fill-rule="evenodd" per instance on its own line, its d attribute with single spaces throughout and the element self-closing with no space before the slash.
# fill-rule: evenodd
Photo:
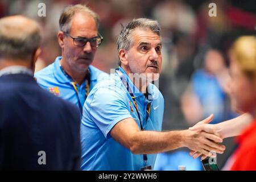
<svg viewBox="0 0 256 182">
<path fill-rule="evenodd" d="M 85 69 L 85 72 L 77 72 L 76 70 L 69 67 L 66 61 L 63 59 L 60 60 L 60 65 L 64 69 L 64 71 L 75 81 L 77 84 L 81 85 L 84 82 L 85 76 L 88 72 L 88 69 Z"/>
</svg>

